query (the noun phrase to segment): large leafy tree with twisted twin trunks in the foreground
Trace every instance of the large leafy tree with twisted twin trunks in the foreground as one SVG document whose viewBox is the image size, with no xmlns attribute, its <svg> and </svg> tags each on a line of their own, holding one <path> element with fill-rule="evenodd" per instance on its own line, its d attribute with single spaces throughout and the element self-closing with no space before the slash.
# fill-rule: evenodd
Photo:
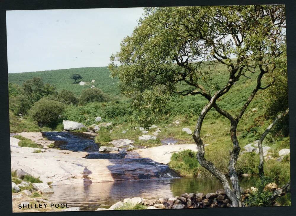
<svg viewBox="0 0 296 216">
<path fill-rule="evenodd" d="M 202 167 L 218 178 L 234 207 L 242 206 L 235 165 L 240 147 L 237 125 L 255 95 L 274 83 L 276 59 L 286 49 L 283 5 L 146 8 L 144 17 L 121 49 L 110 57 L 112 76 L 120 89 L 136 99 L 144 91 L 158 89 L 159 95 L 201 95 L 208 102 L 197 119 L 193 139 Z M 119 62 L 116 64 L 115 62 Z M 212 88 L 212 71 L 217 63 L 227 66 L 225 83 Z M 238 113 L 221 108 L 217 101 L 242 77 L 257 84 Z M 263 77 L 273 77 L 263 86 Z M 205 156 L 200 137 L 202 122 L 215 109 L 230 123 L 232 151 L 226 178 Z"/>
</svg>

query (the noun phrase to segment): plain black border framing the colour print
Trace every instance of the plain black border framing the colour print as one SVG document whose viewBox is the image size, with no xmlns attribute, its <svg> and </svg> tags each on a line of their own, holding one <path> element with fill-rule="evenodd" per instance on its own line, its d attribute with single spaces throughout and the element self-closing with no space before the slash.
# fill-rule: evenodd
<svg viewBox="0 0 296 216">
<path fill-rule="evenodd" d="M 243 4 L 286 4 L 287 19 L 287 59 L 289 84 L 289 125 L 291 149 L 291 200 L 289 207 L 249 207 L 215 209 L 165 209 L 165 210 L 128 210 L 128 211 L 87 211 L 87 212 L 40 212 L 42 215 L 296 215 L 296 2 L 295 0 L 0 0 L 0 214 L 12 215 L 9 113 L 8 111 L 8 75 L 6 10 L 33 9 L 78 9 L 78 8 L 115 8 L 115 7 L 156 7 L 156 6 L 202 6 L 202 5 L 243 5 Z M 32 215 L 32 213 L 14 213 Z"/>
</svg>

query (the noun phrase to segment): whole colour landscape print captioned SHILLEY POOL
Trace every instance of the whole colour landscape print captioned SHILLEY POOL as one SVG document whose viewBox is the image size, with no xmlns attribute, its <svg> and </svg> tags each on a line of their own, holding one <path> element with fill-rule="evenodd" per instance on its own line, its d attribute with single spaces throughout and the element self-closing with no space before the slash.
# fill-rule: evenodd
<svg viewBox="0 0 296 216">
<path fill-rule="evenodd" d="M 284 4 L 6 10 L 6 33 L 12 212 L 291 206 Z"/>
</svg>

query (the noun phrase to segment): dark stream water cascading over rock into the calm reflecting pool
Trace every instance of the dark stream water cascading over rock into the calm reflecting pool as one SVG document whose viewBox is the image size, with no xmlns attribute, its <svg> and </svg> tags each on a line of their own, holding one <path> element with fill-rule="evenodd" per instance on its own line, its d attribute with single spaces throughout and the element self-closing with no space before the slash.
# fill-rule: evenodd
<svg viewBox="0 0 296 216">
<path fill-rule="evenodd" d="M 181 194 L 215 192 L 223 188 L 215 178 L 184 178 L 170 170 L 168 165 L 157 163 L 149 158 L 140 158 L 135 152 L 102 153 L 93 141 L 93 137 L 70 132 L 44 132 L 49 140 L 54 140 L 60 149 L 87 151 L 86 158 L 108 159 L 114 182 L 52 186 L 54 194 L 48 198 L 54 203 L 67 203 L 70 207 L 79 206 L 81 210 L 108 208 L 125 198 L 170 198 Z M 171 142 L 171 141 L 169 141 Z M 87 177 L 89 170 L 85 170 Z M 242 188 L 254 186 L 256 177 L 240 179 Z"/>
</svg>

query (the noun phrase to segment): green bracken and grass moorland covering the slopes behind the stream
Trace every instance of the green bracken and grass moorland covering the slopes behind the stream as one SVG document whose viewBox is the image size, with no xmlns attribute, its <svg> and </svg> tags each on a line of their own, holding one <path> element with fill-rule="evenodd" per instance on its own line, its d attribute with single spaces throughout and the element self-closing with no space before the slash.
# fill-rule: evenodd
<svg viewBox="0 0 296 216">
<path fill-rule="evenodd" d="M 82 81 L 96 80 L 94 86 L 101 89 L 102 94 L 107 95 L 109 99 L 101 102 L 91 101 L 86 103 L 85 100 L 81 102 L 81 93 L 83 90 L 89 89 L 92 84 L 86 86 L 74 84 L 73 80 L 70 79 L 72 73 L 80 73 L 83 76 Z M 73 92 L 77 98 L 78 103 L 76 104 L 62 103 L 64 112 L 54 127 L 38 125 L 30 115 L 30 110 L 28 110 L 28 114 L 22 116 L 21 120 L 18 116 L 17 107 L 19 102 L 17 96 L 23 94 L 22 83 L 36 76 L 42 77 L 44 83 L 53 85 L 57 94 L 62 89 L 66 89 Z M 222 85 L 221 83 L 225 83 L 226 79 L 227 68 L 218 65 L 216 70 L 213 71 L 212 80 L 207 84 L 213 86 L 214 91 L 215 88 Z M 266 82 L 265 79 L 263 79 L 263 85 L 264 82 Z M 239 112 L 255 85 L 255 76 L 251 77 L 251 79 L 243 77 L 235 83 L 227 94 L 217 101 L 217 104 L 235 115 Z M 110 78 L 107 67 L 9 74 L 9 97 L 11 132 L 63 130 L 61 123 L 63 119 L 81 122 L 87 127 L 91 127 L 95 123 L 95 117 L 100 116 L 102 117 L 101 122 L 112 122 L 113 125 L 106 129 L 101 128 L 99 136 L 96 137 L 96 142 L 99 144 L 107 144 L 112 139 L 129 138 L 135 141 L 135 145 L 145 145 L 147 147 L 161 145 L 161 140 L 168 137 L 177 139 L 177 144 L 194 144 L 192 136 L 183 132 L 182 128 L 188 127 L 192 131 L 194 130 L 197 117 L 207 102 L 199 95 L 172 96 L 167 104 L 168 111 L 155 122 L 161 132 L 156 140 L 147 142 L 139 141 L 138 137 L 141 136 L 142 132 L 133 130 L 135 126 L 140 126 L 137 123 L 137 112 L 132 107 L 131 99 L 120 95 L 118 80 Z M 50 100 L 55 98 L 58 98 L 58 96 L 54 96 Z M 243 115 L 237 128 L 237 136 L 241 147 L 259 139 L 263 131 L 271 123 L 272 117 L 266 115 L 266 98 L 265 93 L 258 93 Z M 34 109 L 34 106 L 33 104 L 30 109 Z M 179 125 L 174 125 L 173 122 L 176 120 L 179 120 Z M 263 146 L 271 147 L 272 156 L 272 159 L 265 163 L 266 175 L 279 182 L 287 181 L 290 178 L 289 157 L 286 157 L 282 162 L 276 161 L 276 158 L 279 157 L 279 150 L 289 149 L 289 134 L 283 129 L 286 126 L 281 124 L 279 127 L 274 127 L 263 142 Z M 210 110 L 201 130 L 201 137 L 204 143 L 208 144 L 205 146 L 205 157 L 213 161 L 223 173 L 228 173 L 229 150 L 232 148 L 229 128 L 229 120 L 219 115 L 215 110 Z M 111 129 L 113 131 L 109 133 Z M 122 133 L 123 130 L 127 130 L 126 133 Z M 153 132 L 155 132 L 155 129 L 148 129 L 149 135 L 152 135 Z M 190 154 L 184 155 L 182 157 L 174 155 L 170 166 L 177 171 L 181 170 L 181 174 L 185 176 L 209 175 L 203 167 L 198 166 L 196 168 L 195 165 L 198 162 L 194 161 L 195 158 L 191 157 Z M 259 156 L 257 154 L 242 154 L 237 162 L 237 171 L 239 174 L 258 174 L 258 163 Z"/>
</svg>

